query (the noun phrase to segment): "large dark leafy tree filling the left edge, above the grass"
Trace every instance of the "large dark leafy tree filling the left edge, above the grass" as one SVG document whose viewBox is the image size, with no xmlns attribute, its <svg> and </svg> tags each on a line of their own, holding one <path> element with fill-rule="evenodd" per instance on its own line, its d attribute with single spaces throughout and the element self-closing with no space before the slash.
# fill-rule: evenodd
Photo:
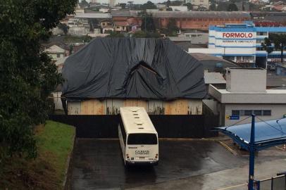
<svg viewBox="0 0 286 190">
<path fill-rule="evenodd" d="M 40 42 L 77 0 L 9 0 L 0 4 L 0 165 L 11 155 L 37 156 L 35 125 L 48 116 L 48 96 L 61 82 Z M 1 166 L 0 166 L 1 167 Z"/>
</svg>

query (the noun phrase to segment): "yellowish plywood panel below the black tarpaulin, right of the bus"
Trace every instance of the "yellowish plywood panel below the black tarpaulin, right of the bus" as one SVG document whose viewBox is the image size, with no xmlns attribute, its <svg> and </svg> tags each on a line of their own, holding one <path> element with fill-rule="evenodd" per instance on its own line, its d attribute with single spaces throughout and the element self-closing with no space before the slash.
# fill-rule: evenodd
<svg viewBox="0 0 286 190">
<path fill-rule="evenodd" d="M 188 106 L 188 101 L 185 99 L 165 101 L 165 115 L 187 115 Z"/>
</svg>

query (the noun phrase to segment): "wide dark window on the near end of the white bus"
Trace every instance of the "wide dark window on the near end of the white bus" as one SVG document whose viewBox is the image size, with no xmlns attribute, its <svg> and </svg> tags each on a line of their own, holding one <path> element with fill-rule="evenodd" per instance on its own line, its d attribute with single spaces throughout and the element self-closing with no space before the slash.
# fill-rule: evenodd
<svg viewBox="0 0 286 190">
<path fill-rule="evenodd" d="M 129 134 L 127 144 L 157 144 L 157 136 L 148 133 Z"/>
</svg>

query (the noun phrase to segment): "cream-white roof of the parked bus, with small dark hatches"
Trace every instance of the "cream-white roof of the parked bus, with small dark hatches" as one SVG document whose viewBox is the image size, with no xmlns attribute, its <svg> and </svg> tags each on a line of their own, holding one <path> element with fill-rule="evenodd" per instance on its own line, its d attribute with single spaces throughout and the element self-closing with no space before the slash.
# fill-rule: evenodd
<svg viewBox="0 0 286 190">
<path fill-rule="evenodd" d="M 157 134 L 146 110 L 143 107 L 121 107 L 120 115 L 127 134 L 150 132 Z"/>
</svg>

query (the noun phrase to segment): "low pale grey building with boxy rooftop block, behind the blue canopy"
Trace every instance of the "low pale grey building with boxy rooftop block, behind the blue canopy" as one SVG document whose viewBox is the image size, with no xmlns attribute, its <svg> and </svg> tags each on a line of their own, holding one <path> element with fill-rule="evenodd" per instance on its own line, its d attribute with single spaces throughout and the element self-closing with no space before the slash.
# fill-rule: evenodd
<svg viewBox="0 0 286 190">
<path fill-rule="evenodd" d="M 209 86 L 209 94 L 216 101 L 212 109 L 220 116 L 220 125 L 250 122 L 244 119 L 251 114 L 261 120 L 278 119 L 286 114 L 286 89 L 266 89 L 266 70 L 227 68 L 225 75 L 225 89 Z"/>
</svg>

